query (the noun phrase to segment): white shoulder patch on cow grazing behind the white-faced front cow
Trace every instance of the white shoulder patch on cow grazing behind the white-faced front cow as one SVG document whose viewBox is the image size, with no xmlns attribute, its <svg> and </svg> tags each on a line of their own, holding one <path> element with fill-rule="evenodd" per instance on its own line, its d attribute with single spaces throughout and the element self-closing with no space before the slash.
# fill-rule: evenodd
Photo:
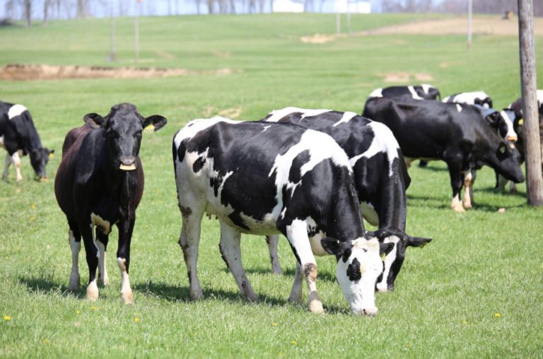
<svg viewBox="0 0 543 359">
<path fill-rule="evenodd" d="M 392 162 L 395 158 L 398 158 L 398 141 L 392 131 L 385 125 L 380 122 L 370 122 L 368 124 L 373 130 L 373 139 L 371 141 L 370 147 L 366 152 L 356 155 L 352 158 L 349 158 L 349 165 L 354 167 L 356 161 L 360 158 L 372 158 L 377 153 L 386 153 L 388 158 L 388 176 L 392 177 L 394 170 L 392 169 Z"/>
</svg>

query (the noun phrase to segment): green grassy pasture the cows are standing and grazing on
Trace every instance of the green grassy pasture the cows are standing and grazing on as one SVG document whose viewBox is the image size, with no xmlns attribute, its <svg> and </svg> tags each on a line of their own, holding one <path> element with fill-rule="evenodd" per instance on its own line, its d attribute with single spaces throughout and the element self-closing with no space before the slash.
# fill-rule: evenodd
<svg viewBox="0 0 543 359">
<path fill-rule="evenodd" d="M 423 16 L 353 16 L 354 31 Z M 378 294 L 375 318 L 354 317 L 334 283 L 334 259 L 317 259 L 317 286 L 327 314 L 288 305 L 294 260 L 280 243 L 284 276 L 269 273 L 267 246 L 245 237 L 243 260 L 260 302 L 238 295 L 220 259 L 218 225 L 203 221 L 199 276 L 206 299 L 189 302 L 188 281 L 177 246 L 181 220 L 175 199 L 171 139 L 189 119 L 240 112 L 259 119 L 296 105 L 360 112 L 366 95 L 387 85 L 387 73 L 411 73 L 443 95 L 484 89 L 506 107 L 520 95 L 518 40 L 380 35 L 344 37 L 322 45 L 302 35 L 333 33 L 333 15 L 185 16 L 141 18 L 141 64 L 194 70 L 233 69 L 176 78 L 0 81 L 0 99 L 25 104 L 45 146 L 52 179 L 66 131 L 88 112 L 105 114 L 132 102 L 142 114 L 163 114 L 168 126 L 144 136 L 141 159 L 146 192 L 132 241 L 135 305 L 119 300 L 115 236 L 111 285 L 98 302 L 67 293 L 71 266 L 67 225 L 53 181 L 37 183 L 28 158 L 22 183 L 0 183 L 0 357 L 541 357 L 543 353 L 543 211 L 517 195 L 495 193 L 494 172 L 475 184 L 476 208 L 453 213 L 443 163 L 413 167 L 407 231 L 433 237 L 408 249 L 393 293 Z M 107 66 L 109 20 L 53 22 L 33 28 L 0 28 L 0 65 Z M 133 23 L 117 20 L 119 61 L 132 66 Z M 538 38 L 536 55 L 543 59 Z M 538 62 L 543 73 L 543 62 Z M 417 81 L 416 73 L 431 80 Z M 539 80 L 539 88 L 543 82 Z M 498 213 L 498 208 L 506 208 Z M 84 254 L 81 281 L 86 284 Z"/>
</svg>

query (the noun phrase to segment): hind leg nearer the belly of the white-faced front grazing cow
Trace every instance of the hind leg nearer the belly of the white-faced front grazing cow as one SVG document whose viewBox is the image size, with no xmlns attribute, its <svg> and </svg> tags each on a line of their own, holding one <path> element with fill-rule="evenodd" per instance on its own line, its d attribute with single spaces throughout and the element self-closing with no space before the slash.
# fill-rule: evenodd
<svg viewBox="0 0 543 359">
<path fill-rule="evenodd" d="M 247 279 L 245 270 L 243 270 L 243 264 L 241 262 L 241 249 L 240 249 L 240 238 L 241 234 L 231 228 L 223 221 L 221 223 L 221 242 L 218 245 L 218 248 L 221 249 L 221 254 L 224 261 L 230 271 L 232 272 L 235 282 L 238 283 L 241 293 L 247 300 L 251 302 L 256 302 L 258 300 L 255 291 L 252 290 L 251 283 Z"/>
</svg>

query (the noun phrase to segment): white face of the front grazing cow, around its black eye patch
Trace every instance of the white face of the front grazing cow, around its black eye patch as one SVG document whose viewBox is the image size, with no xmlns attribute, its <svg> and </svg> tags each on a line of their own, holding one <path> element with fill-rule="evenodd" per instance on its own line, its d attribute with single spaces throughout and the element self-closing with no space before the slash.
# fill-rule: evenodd
<svg viewBox="0 0 543 359">
<path fill-rule="evenodd" d="M 379 256 L 379 242 L 372 238 L 358 238 L 353 241 L 351 257 L 346 262 L 339 259 L 337 262 L 336 278 L 346 300 L 355 314 L 366 312 L 369 315 L 377 314 L 375 307 L 375 282 L 383 271 L 383 261 Z M 354 259 L 360 264 L 361 278 L 351 281 L 347 276 L 349 265 Z"/>
</svg>

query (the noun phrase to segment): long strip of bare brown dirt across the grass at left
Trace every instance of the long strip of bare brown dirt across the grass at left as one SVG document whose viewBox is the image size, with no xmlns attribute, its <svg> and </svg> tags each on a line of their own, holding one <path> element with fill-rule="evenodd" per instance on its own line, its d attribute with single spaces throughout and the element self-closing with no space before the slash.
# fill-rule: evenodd
<svg viewBox="0 0 543 359">
<path fill-rule="evenodd" d="M 230 75 L 232 69 L 196 71 L 158 67 L 103 67 L 7 64 L 0 68 L 0 80 L 59 80 L 63 78 L 151 78 L 189 75 Z"/>
</svg>

